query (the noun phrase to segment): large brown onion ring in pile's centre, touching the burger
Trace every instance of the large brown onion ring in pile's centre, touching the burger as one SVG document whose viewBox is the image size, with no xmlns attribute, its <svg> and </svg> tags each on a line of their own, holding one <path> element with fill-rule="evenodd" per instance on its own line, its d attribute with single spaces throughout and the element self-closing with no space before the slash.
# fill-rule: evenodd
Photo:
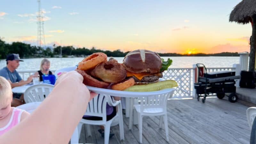
<svg viewBox="0 0 256 144">
<path fill-rule="evenodd" d="M 91 75 L 100 78 L 104 82 L 118 83 L 125 79 L 126 70 L 123 64 L 115 61 L 107 61 L 96 66 Z"/>
</svg>

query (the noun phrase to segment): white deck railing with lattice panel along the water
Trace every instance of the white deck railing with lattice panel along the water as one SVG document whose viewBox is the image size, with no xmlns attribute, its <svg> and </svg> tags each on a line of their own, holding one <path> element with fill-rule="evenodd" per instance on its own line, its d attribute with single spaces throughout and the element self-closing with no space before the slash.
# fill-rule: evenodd
<svg viewBox="0 0 256 144">
<path fill-rule="evenodd" d="M 207 72 L 221 71 L 221 70 L 236 70 L 235 67 L 227 68 L 207 68 Z M 55 72 L 55 70 L 51 70 Z M 32 75 L 36 70 L 18 70 L 22 79 L 26 80 L 29 75 Z M 164 71 L 164 79 L 172 79 L 178 83 L 178 87 L 174 91 L 172 99 L 175 98 L 192 98 L 194 90 L 194 68 L 168 68 Z"/>
</svg>

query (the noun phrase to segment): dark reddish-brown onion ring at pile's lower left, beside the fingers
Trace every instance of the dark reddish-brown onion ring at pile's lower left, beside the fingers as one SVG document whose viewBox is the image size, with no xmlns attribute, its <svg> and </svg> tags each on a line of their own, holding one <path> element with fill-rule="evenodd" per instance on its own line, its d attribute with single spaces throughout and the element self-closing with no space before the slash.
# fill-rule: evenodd
<svg viewBox="0 0 256 144">
<path fill-rule="evenodd" d="M 83 83 L 85 85 L 99 87 L 99 88 L 107 88 L 109 85 L 109 83 L 99 81 L 99 80 L 93 78 L 92 76 L 86 74 L 86 72 L 83 70 L 76 69 L 76 71 L 84 77 Z"/>
</svg>

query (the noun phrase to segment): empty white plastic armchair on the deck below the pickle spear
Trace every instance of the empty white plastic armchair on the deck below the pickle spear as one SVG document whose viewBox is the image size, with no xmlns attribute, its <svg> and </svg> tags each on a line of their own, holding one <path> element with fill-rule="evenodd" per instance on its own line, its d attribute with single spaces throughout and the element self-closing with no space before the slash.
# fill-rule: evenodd
<svg viewBox="0 0 256 144">
<path fill-rule="evenodd" d="M 162 121 L 164 118 L 164 128 L 166 134 L 166 140 L 169 141 L 168 136 L 168 120 L 167 120 L 167 110 L 166 103 L 169 98 L 172 97 L 174 91 L 154 95 L 149 97 L 140 97 L 140 104 L 135 104 L 133 107 L 138 112 L 139 119 L 139 137 L 140 143 L 142 143 L 142 118 L 143 116 L 160 116 L 159 127 L 162 128 Z"/>
</svg>

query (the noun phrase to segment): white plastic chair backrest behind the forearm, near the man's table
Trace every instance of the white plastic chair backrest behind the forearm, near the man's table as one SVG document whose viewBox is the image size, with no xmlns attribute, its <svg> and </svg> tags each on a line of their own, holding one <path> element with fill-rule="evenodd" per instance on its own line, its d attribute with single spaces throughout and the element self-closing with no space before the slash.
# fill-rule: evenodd
<svg viewBox="0 0 256 144">
<path fill-rule="evenodd" d="M 52 84 L 35 84 L 30 86 L 24 93 L 26 103 L 43 101 L 52 91 Z"/>
</svg>

